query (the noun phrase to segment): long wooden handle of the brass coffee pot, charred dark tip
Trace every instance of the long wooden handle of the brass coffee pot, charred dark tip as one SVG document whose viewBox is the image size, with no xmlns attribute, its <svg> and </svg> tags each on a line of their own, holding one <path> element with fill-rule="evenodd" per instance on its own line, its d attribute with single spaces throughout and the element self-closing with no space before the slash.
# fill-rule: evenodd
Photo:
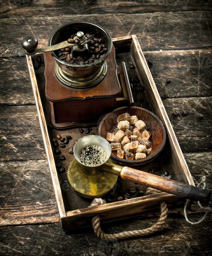
<svg viewBox="0 0 212 256">
<path fill-rule="evenodd" d="M 200 201 L 205 204 L 208 204 L 210 201 L 210 191 L 174 181 L 172 179 L 167 179 L 130 167 L 122 167 L 120 165 L 110 164 L 107 162 L 103 165 L 102 170 L 121 176 L 122 179 L 158 189 L 163 192 L 176 195 L 177 197 L 185 197 L 186 199 Z"/>
</svg>

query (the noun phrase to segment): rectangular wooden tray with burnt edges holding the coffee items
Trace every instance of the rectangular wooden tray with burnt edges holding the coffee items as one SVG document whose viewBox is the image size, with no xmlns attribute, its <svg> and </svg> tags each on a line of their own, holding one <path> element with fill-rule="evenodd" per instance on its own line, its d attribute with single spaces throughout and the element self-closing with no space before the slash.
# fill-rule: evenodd
<svg viewBox="0 0 212 256">
<path fill-rule="evenodd" d="M 138 166 L 137 168 L 144 171 L 153 168 L 154 174 L 162 176 L 166 170 L 170 173 L 169 178 L 195 185 L 136 36 L 132 35 L 114 38 L 113 44 L 116 48 L 116 61 L 118 67 L 121 67 L 121 61 L 125 61 L 129 77 L 135 75 L 135 72 L 137 73 L 141 85 L 145 87 L 145 91 L 140 92 L 139 96 L 141 95 L 145 100 L 149 101 L 152 112 L 161 119 L 167 132 L 166 145 L 161 154 L 150 163 L 142 167 Z M 43 75 L 44 64 L 42 55 L 40 55 L 39 58 L 38 57 L 39 56 L 27 56 L 27 64 L 62 228 L 68 230 L 89 226 L 91 225 L 91 218 L 96 214 L 100 215 L 102 222 L 109 222 L 156 211 L 159 209 L 160 201 L 168 202 L 169 207 L 174 207 L 176 203 L 182 202 L 176 196 L 168 193 L 143 197 L 137 197 L 137 195 L 134 194 L 130 199 L 120 202 L 115 201 L 115 195 L 114 200 L 111 203 L 87 208 L 90 205 L 91 200 L 77 195 L 67 182 L 67 168 L 74 157 L 73 154 L 68 153 L 68 149 L 74 144 L 73 141 L 75 139 L 79 139 L 86 134 L 79 133 L 78 129 L 63 130 L 59 132 L 54 129 L 47 130 L 47 125 L 50 124 L 50 108 L 45 97 L 45 78 Z M 129 68 L 132 63 L 134 63 L 136 67 L 134 70 Z M 136 104 L 138 106 L 138 103 Z M 93 127 L 92 132 L 97 134 L 97 127 Z M 66 172 L 62 174 L 58 173 L 55 167 L 55 164 L 60 161 L 58 156 L 53 153 L 55 149 L 51 145 L 51 138 L 58 133 L 60 133 L 62 137 L 65 137 L 66 135 L 72 136 L 67 147 L 60 148 L 62 152 L 61 154 L 66 156 L 66 160 L 61 161 L 61 164 L 66 168 Z M 121 183 L 123 185 L 123 194 L 128 192 L 129 188 L 132 187 L 139 187 L 139 189 L 145 191 L 145 187 L 142 185 L 136 185 L 132 182 L 123 180 Z"/>
</svg>

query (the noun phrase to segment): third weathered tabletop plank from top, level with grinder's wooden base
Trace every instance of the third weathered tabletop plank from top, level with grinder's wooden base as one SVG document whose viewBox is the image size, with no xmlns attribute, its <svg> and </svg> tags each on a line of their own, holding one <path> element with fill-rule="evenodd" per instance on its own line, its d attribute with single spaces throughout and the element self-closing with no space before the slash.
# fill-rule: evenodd
<svg viewBox="0 0 212 256">
<path fill-rule="evenodd" d="M 170 98 L 212 95 L 211 49 L 152 51 L 144 52 L 144 55 L 153 63 L 150 70 L 161 97 L 164 93 Z M 130 53 L 117 55 L 118 63 L 126 62 L 131 78 L 135 71 L 129 68 L 130 59 Z M 40 71 L 43 70 L 35 69 L 35 72 Z M 0 75 L 0 104 L 34 104 L 25 57 L 0 58 Z M 167 78 L 171 79 L 170 84 L 166 83 Z"/>
</svg>

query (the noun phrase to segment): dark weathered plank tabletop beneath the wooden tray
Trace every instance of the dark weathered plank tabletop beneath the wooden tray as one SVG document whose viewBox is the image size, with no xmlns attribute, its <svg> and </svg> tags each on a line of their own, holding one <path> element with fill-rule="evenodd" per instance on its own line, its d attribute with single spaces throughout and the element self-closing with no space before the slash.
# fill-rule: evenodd
<svg viewBox="0 0 212 256">
<path fill-rule="evenodd" d="M 20 42 L 33 34 L 44 46 L 68 21 L 91 21 L 112 37 L 136 34 L 194 181 L 211 179 L 211 1 L 1 2 L 1 248 L 2 255 L 206 255 L 211 215 L 190 225 L 171 210 L 164 231 L 116 243 L 113 252 L 92 228 L 65 234 L 57 206 Z M 166 79 L 171 80 L 166 84 Z M 179 115 L 173 115 L 178 109 Z M 188 115 L 182 111 L 187 109 Z M 199 116 L 202 116 L 201 120 Z M 189 211 L 191 221 L 203 212 Z M 147 228 L 159 213 L 102 225 L 108 232 Z"/>
</svg>

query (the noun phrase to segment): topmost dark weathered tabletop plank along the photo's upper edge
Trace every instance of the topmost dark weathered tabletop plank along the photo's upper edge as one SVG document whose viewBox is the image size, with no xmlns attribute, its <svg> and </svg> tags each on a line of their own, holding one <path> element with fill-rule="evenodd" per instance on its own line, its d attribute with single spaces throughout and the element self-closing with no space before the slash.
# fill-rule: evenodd
<svg viewBox="0 0 212 256">
<path fill-rule="evenodd" d="M 9 1 L 3 2 L 0 18 L 57 16 L 64 13 L 80 14 L 105 14 L 105 13 L 151 13 L 168 11 L 197 11 L 209 10 L 211 2 L 190 1 Z"/>
</svg>

